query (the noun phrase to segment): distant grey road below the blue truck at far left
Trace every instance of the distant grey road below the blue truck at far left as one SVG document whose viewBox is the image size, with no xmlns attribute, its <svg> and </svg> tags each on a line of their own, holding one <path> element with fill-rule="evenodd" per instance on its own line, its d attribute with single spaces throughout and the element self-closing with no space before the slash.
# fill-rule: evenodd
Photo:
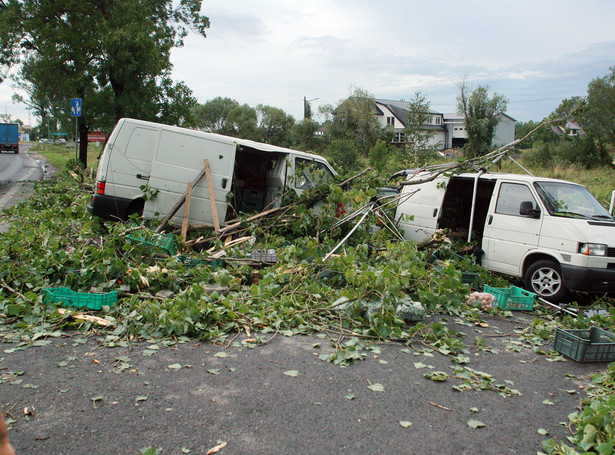
<svg viewBox="0 0 615 455">
<path fill-rule="evenodd" d="M 30 195 L 32 182 L 42 180 L 44 162 L 30 154 L 31 144 L 20 144 L 19 153 L 0 153 L 0 210 Z"/>
</svg>

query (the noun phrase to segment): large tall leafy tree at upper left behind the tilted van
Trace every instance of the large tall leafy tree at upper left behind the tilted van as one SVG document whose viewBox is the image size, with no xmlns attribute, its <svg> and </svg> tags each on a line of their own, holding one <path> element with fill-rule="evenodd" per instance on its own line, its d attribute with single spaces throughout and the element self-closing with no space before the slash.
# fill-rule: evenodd
<svg viewBox="0 0 615 455">
<path fill-rule="evenodd" d="M 201 0 L 6 0 L 1 6 L 2 75 L 20 64 L 21 80 L 37 93 L 33 102 L 47 97 L 50 110 L 67 113 L 70 98 L 83 99 L 84 164 L 88 129 L 101 121 L 94 107 L 115 121 L 187 120 L 169 106 L 170 100 L 186 108 L 194 103 L 185 85 L 170 79 L 170 52 L 189 30 L 205 36 L 209 20 L 200 14 Z M 54 84 L 42 84 L 44 74 Z"/>
</svg>

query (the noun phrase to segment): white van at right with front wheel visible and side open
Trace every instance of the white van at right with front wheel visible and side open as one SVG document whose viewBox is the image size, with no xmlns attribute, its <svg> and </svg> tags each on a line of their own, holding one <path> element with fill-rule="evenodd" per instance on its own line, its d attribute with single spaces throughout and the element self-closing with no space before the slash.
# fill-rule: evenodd
<svg viewBox="0 0 615 455">
<path fill-rule="evenodd" d="M 427 178 L 425 172 L 409 177 Z M 406 239 L 424 240 L 448 229 L 480 245 L 485 269 L 520 277 L 547 300 L 559 301 L 567 290 L 615 291 L 615 219 L 582 185 L 529 175 L 460 174 L 406 185 L 401 201 L 396 216 Z"/>
</svg>

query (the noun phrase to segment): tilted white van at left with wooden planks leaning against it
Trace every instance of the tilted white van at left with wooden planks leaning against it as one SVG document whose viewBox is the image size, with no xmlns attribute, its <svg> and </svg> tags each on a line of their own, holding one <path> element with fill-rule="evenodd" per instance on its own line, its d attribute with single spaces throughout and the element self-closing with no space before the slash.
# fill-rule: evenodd
<svg viewBox="0 0 615 455">
<path fill-rule="evenodd" d="M 279 204 L 335 175 L 323 157 L 219 134 L 124 118 L 109 136 L 98 164 L 88 211 L 107 219 L 131 214 L 163 218 L 209 160 L 218 219 Z M 232 197 L 229 193 L 232 192 Z M 155 197 L 147 197 L 153 195 Z M 231 208 L 231 210 L 229 210 Z M 189 223 L 212 226 L 209 188 L 193 188 Z M 183 210 L 171 219 L 181 225 Z"/>
</svg>

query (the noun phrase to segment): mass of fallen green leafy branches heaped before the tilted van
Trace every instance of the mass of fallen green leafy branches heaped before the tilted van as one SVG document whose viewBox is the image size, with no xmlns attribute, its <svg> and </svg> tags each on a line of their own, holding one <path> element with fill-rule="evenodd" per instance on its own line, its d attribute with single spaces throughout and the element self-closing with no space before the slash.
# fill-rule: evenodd
<svg viewBox="0 0 615 455">
<path fill-rule="evenodd" d="M 333 227 L 339 220 L 337 203 L 367 203 L 375 194 L 370 186 L 307 191 L 285 225 L 252 226 L 262 242 L 254 247 L 275 248 L 278 256 L 276 266 L 261 268 L 260 280 L 254 281 L 252 267 L 241 262 L 227 262 L 222 269 L 206 262 L 189 267 L 147 244 L 129 243 L 125 225 L 87 214 L 89 194 L 62 171 L 57 181 L 38 183 L 27 203 L 6 211 L 12 227 L 0 236 L 9 259 L 0 271 L 0 312 L 10 314 L 8 323 L 22 330 L 36 330 L 42 323 L 74 328 L 55 306 L 42 303 L 42 289 L 117 290 L 118 305 L 107 317 L 116 324 L 114 335 L 121 337 L 212 339 L 250 327 L 410 339 L 397 312 L 401 302 L 409 297 L 428 312 L 459 312 L 468 287 L 452 263 L 436 269 L 427 263 L 430 253 L 411 242 L 391 243 L 386 232 L 374 236 L 369 229 L 358 230 L 344 245 L 344 254 L 323 262 L 348 229 Z M 315 200 L 322 201 L 318 215 L 309 208 Z M 365 226 L 376 219 L 370 215 Z M 247 254 L 241 247 L 228 253 Z M 212 286 L 225 291 L 212 292 Z M 163 290 L 171 296 L 154 297 Z M 333 305 L 342 297 L 350 303 Z M 88 330 L 90 325 L 80 327 Z"/>
</svg>

